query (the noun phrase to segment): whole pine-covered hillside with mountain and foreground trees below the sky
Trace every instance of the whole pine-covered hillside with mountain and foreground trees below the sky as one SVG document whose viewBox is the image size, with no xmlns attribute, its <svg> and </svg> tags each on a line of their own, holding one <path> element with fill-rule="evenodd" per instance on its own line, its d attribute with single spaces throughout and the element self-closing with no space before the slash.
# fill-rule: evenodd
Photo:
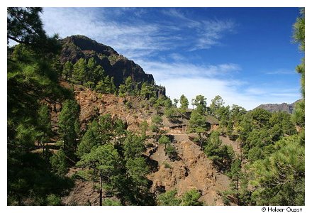
<svg viewBox="0 0 312 213">
<path fill-rule="evenodd" d="M 7 12 L 8 206 L 305 205 L 304 58 L 292 114 L 172 100 L 113 48 L 47 35 L 42 8 Z"/>
</svg>

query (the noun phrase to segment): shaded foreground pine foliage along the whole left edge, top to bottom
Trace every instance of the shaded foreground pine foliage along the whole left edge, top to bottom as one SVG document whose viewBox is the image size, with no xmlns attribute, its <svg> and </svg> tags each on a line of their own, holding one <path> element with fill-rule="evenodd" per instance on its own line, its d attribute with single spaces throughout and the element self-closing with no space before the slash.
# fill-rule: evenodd
<svg viewBox="0 0 312 213">
<path fill-rule="evenodd" d="M 60 45 L 57 36 L 49 38 L 43 31 L 42 9 L 7 11 L 7 38 L 20 43 L 8 49 L 7 58 L 8 204 L 46 204 L 48 195 L 64 195 L 71 183 L 51 173 L 47 149 L 30 151 L 35 143 L 50 141 L 50 112 L 43 103 L 62 102 L 71 94 L 57 82 L 60 64 L 55 53 Z"/>
</svg>

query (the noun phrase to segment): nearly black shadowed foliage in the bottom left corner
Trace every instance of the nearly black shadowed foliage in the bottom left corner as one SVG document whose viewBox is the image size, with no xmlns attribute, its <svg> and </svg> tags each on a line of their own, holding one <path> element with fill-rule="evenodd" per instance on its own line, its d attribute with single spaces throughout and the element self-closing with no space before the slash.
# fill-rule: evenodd
<svg viewBox="0 0 312 213">
<path fill-rule="evenodd" d="M 71 187 L 73 182 L 51 173 L 45 158 L 38 153 L 8 158 L 8 205 L 46 205 L 48 195 L 65 196 Z"/>
</svg>

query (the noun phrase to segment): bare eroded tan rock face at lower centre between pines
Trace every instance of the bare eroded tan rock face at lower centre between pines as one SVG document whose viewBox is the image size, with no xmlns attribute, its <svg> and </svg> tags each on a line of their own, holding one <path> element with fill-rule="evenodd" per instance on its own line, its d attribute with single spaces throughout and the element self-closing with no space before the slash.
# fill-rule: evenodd
<svg viewBox="0 0 312 213">
<path fill-rule="evenodd" d="M 223 205 L 218 191 L 228 187 L 228 178 L 220 174 L 213 168 L 211 160 L 200 151 L 199 146 L 189 141 L 187 134 L 175 135 L 177 149 L 180 160 L 170 161 L 165 155 L 163 146 L 159 146 L 151 158 L 159 163 L 159 170 L 148 175 L 152 180 L 151 192 L 156 195 L 160 190 L 174 190 L 178 196 L 196 188 L 200 190 L 202 196 L 200 200 L 208 205 Z"/>
</svg>

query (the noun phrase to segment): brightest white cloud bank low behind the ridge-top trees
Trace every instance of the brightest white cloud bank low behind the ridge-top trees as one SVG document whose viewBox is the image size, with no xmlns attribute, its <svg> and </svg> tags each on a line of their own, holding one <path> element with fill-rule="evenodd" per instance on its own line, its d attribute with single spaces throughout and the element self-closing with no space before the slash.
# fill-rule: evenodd
<svg viewBox="0 0 312 213">
<path fill-rule="evenodd" d="M 255 94 L 245 90 L 240 82 L 235 80 L 218 80 L 216 78 L 198 78 L 198 77 L 178 77 L 160 81 L 166 86 L 167 95 L 171 99 L 177 98 L 184 94 L 191 102 L 191 99 L 198 94 L 207 98 L 207 103 L 211 103 L 211 99 L 220 95 L 225 105 L 238 104 L 247 110 L 254 109 L 260 104 L 282 104 L 284 102 L 291 104 L 300 99 L 299 92 L 272 93 L 270 88 L 261 94 Z M 191 105 L 189 105 L 191 107 Z"/>
</svg>

